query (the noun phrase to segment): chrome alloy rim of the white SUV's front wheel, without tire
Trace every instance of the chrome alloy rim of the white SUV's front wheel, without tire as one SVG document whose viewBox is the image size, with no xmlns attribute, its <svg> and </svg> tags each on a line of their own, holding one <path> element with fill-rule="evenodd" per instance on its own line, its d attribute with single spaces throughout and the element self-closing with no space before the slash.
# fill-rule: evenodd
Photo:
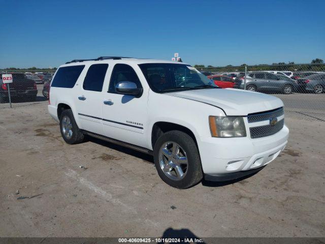
<svg viewBox="0 0 325 244">
<path fill-rule="evenodd" d="M 184 149 L 174 141 L 164 143 L 159 150 L 161 170 L 172 180 L 181 180 L 187 173 L 187 156 Z"/>
</svg>

